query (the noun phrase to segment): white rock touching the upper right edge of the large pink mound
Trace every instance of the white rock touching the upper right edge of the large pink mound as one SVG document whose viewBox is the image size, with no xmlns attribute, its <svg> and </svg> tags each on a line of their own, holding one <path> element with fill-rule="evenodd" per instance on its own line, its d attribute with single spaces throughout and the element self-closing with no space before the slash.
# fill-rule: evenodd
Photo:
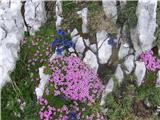
<svg viewBox="0 0 160 120">
<path fill-rule="evenodd" d="M 97 57 L 92 51 L 88 50 L 85 53 L 83 62 L 89 65 L 92 69 L 94 69 L 97 72 L 98 67 L 99 67 L 98 62 L 97 62 Z"/>
</svg>

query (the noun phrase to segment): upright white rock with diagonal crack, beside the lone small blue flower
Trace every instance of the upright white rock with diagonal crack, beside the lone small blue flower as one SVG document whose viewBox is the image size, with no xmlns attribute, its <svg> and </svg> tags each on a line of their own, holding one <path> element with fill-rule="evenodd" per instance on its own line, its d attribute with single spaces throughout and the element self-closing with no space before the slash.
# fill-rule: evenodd
<svg viewBox="0 0 160 120">
<path fill-rule="evenodd" d="M 108 36 L 105 31 L 97 32 L 98 58 L 101 64 L 108 62 L 112 55 L 112 46 L 108 44 Z M 107 39 L 108 38 L 108 39 Z"/>
</svg>

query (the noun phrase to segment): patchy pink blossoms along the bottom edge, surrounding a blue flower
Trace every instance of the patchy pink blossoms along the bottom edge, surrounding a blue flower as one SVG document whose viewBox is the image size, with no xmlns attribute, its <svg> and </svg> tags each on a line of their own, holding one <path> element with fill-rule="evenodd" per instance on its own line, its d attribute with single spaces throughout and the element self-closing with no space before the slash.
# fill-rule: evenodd
<svg viewBox="0 0 160 120">
<path fill-rule="evenodd" d="M 86 106 L 79 107 L 77 102 L 73 102 L 69 106 L 63 105 L 60 108 L 44 105 L 39 112 L 41 120 L 105 120 L 104 116 L 98 111 L 84 115 L 89 109 Z"/>
</svg>

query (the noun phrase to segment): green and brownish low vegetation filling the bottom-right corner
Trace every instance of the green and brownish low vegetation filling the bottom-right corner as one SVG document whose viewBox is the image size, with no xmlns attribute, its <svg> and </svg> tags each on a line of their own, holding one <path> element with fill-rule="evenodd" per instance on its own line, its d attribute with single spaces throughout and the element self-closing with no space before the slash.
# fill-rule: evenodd
<svg viewBox="0 0 160 120">
<path fill-rule="evenodd" d="M 159 117 L 154 115 L 154 112 L 160 105 L 160 88 L 153 84 L 155 74 L 148 72 L 141 87 L 136 85 L 132 75 L 126 78 L 120 85 L 114 80 L 114 90 L 106 99 L 107 117 L 112 120 L 133 120 L 135 118 L 158 120 Z M 147 107 L 147 104 L 150 106 Z"/>
</svg>

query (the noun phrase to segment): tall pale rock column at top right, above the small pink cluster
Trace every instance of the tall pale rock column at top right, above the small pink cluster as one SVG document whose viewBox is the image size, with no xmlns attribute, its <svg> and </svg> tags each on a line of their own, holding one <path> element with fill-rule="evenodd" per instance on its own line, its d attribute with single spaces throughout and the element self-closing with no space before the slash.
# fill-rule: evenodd
<svg viewBox="0 0 160 120">
<path fill-rule="evenodd" d="M 137 31 L 139 42 L 143 51 L 153 47 L 156 30 L 157 0 L 139 0 L 137 8 L 138 24 Z"/>
</svg>

